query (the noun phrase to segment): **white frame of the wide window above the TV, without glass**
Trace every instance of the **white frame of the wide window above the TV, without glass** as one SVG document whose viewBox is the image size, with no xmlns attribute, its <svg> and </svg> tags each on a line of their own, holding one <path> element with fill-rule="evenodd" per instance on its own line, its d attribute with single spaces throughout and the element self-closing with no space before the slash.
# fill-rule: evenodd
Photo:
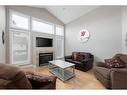
<svg viewBox="0 0 127 95">
<path fill-rule="evenodd" d="M 45 24 L 52 25 L 52 26 L 53 26 L 53 29 L 52 29 L 53 33 L 46 33 L 46 32 L 41 32 L 41 31 L 33 30 L 33 20 L 38 21 L 38 22 L 42 22 L 42 23 L 45 23 Z M 50 22 L 47 22 L 47 21 L 45 21 L 45 20 L 38 19 L 38 18 L 35 18 L 35 17 L 32 17 L 32 19 L 31 19 L 31 31 L 32 31 L 32 32 L 39 32 L 39 33 L 54 35 L 54 34 L 55 34 L 54 28 L 55 28 L 55 26 L 54 26 L 53 23 L 50 23 Z"/>
</svg>

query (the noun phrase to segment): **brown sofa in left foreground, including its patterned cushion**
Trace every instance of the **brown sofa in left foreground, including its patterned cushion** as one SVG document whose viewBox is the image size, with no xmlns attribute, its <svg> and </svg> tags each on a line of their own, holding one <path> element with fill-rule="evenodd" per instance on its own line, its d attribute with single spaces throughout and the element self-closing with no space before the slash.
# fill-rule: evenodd
<svg viewBox="0 0 127 95">
<path fill-rule="evenodd" d="M 20 68 L 0 64 L 0 89 L 55 89 L 56 77 L 25 73 Z"/>
</svg>

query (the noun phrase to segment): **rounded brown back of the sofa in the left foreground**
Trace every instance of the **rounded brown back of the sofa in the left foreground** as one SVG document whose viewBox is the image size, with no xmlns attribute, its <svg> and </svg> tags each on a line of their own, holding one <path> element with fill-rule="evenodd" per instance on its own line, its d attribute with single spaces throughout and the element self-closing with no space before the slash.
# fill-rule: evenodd
<svg viewBox="0 0 127 95">
<path fill-rule="evenodd" d="M 3 88 L 32 88 L 26 78 L 25 73 L 18 67 L 8 64 L 0 64 L 0 81 L 6 81 L 6 84 L 0 83 Z"/>
</svg>

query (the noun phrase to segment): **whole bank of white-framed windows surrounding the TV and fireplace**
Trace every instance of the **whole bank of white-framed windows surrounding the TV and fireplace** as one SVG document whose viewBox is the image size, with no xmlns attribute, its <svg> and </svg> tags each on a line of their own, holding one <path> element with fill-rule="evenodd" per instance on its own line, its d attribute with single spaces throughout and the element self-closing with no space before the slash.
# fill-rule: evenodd
<svg viewBox="0 0 127 95">
<path fill-rule="evenodd" d="M 10 61 L 16 65 L 30 64 L 30 33 L 52 34 L 56 59 L 64 58 L 64 26 L 10 11 Z"/>
</svg>

